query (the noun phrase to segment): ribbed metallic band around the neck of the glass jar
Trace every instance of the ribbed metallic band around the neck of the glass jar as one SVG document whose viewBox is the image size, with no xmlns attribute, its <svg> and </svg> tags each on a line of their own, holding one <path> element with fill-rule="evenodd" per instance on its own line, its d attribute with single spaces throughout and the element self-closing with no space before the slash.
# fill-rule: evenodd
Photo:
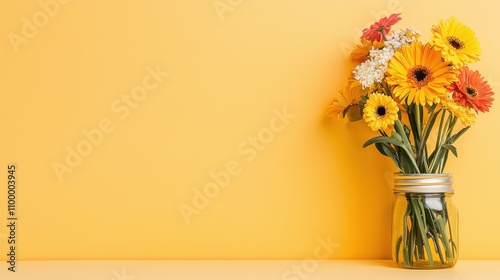
<svg viewBox="0 0 500 280">
<path fill-rule="evenodd" d="M 453 178 L 450 173 L 394 174 L 394 192 L 448 193 L 453 191 Z"/>
</svg>

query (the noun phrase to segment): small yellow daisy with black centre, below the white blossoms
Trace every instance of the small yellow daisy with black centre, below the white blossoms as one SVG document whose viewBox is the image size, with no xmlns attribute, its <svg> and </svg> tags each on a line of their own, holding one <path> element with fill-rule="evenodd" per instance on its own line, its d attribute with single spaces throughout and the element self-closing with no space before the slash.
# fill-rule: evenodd
<svg viewBox="0 0 500 280">
<path fill-rule="evenodd" d="M 363 119 L 373 130 L 390 131 L 398 119 L 398 104 L 382 93 L 370 95 L 363 108 Z"/>
</svg>

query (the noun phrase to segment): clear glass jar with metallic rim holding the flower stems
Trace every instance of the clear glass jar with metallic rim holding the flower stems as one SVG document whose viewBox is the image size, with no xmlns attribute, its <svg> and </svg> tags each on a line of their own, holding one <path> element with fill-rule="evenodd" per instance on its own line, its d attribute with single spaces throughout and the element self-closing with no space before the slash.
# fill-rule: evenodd
<svg viewBox="0 0 500 280">
<path fill-rule="evenodd" d="M 447 268 L 458 258 L 458 211 L 451 174 L 394 178 L 392 258 L 404 268 Z"/>
</svg>

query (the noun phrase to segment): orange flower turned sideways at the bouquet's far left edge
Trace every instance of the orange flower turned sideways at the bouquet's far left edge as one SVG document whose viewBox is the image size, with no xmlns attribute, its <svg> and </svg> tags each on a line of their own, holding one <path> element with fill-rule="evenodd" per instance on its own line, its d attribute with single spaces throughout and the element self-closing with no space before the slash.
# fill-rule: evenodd
<svg viewBox="0 0 500 280">
<path fill-rule="evenodd" d="M 333 98 L 330 109 L 328 110 L 328 117 L 332 118 L 345 118 L 346 122 L 355 122 L 363 118 L 361 109 L 358 104 L 361 100 L 361 95 L 368 93 L 369 89 L 363 90 L 363 87 L 358 80 L 349 79 L 345 84 L 342 91 L 339 91 Z"/>
</svg>

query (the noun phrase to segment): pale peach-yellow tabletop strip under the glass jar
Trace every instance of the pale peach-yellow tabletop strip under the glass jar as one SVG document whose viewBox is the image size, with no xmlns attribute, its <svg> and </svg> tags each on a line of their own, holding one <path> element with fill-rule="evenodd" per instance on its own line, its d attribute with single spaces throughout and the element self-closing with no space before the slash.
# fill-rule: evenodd
<svg viewBox="0 0 500 280">
<path fill-rule="evenodd" d="M 391 260 L 21 261 L 1 280 L 424 279 L 500 280 L 500 260 L 459 260 L 451 269 L 409 270 Z"/>
</svg>

